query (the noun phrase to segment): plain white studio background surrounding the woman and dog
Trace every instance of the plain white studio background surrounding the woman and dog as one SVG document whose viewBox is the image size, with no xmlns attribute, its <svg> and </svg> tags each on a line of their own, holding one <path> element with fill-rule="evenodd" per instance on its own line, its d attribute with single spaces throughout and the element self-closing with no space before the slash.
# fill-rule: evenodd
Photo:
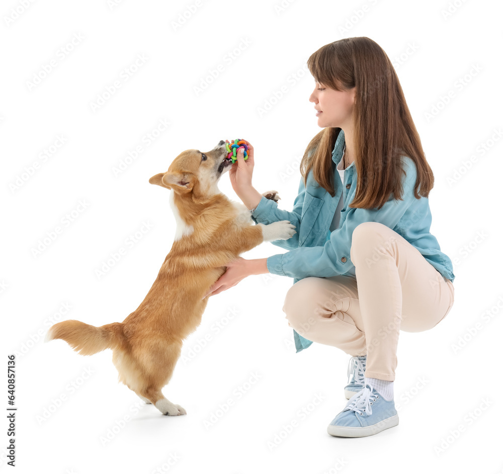
<svg viewBox="0 0 503 474">
<path fill-rule="evenodd" d="M 18 472 L 502 472 L 499 3 L 21 4 L 6 0 L 0 10 L 0 302 L 4 367 L 18 353 Z M 51 318 L 99 326 L 122 321 L 143 300 L 175 235 L 169 192 L 148 178 L 183 150 L 245 138 L 255 147 L 254 186 L 277 189 L 279 206 L 291 210 L 300 158 L 320 130 L 306 60 L 352 36 L 376 41 L 395 66 L 435 173 L 431 232 L 456 275 L 442 324 L 400 335 L 397 427 L 358 439 L 326 433 L 346 404 L 349 355 L 316 343 L 295 353 L 282 312 L 288 277 L 250 276 L 210 298 L 164 389 L 186 416 L 139 402 L 117 382 L 110 350 L 83 357 L 63 341 L 42 342 Z M 128 75 L 138 55 L 146 60 Z M 116 80 L 120 87 L 93 110 Z M 162 132 L 160 120 L 170 122 Z M 114 175 L 147 134 L 155 140 Z M 42 162 L 58 137 L 64 143 Z M 238 200 L 228 174 L 219 185 Z M 150 228 L 142 232 L 143 222 Z M 57 226 L 61 233 L 35 255 Z M 126 254 L 98 277 L 121 247 Z M 284 251 L 264 243 L 242 256 Z M 211 340 L 201 347 L 204 337 Z M 217 421 L 205 426 L 212 414 Z M 0 469 L 11 471 L 5 428 Z"/>
</svg>

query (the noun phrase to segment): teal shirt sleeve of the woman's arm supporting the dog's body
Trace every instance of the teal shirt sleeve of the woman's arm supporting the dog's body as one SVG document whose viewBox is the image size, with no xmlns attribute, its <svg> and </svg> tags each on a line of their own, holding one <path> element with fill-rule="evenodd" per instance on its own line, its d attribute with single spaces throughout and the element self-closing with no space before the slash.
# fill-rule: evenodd
<svg viewBox="0 0 503 474">
<path fill-rule="evenodd" d="M 391 194 L 381 209 L 349 208 L 341 228 L 331 232 L 323 246 L 298 247 L 289 252 L 267 258 L 270 273 L 292 278 L 306 276 L 329 277 L 343 275 L 355 266 L 351 261 L 353 231 L 363 222 L 380 222 L 393 229 L 409 206 L 413 203 L 417 171 L 408 158 L 406 176 L 402 178 L 402 200 L 393 199 Z"/>
</svg>

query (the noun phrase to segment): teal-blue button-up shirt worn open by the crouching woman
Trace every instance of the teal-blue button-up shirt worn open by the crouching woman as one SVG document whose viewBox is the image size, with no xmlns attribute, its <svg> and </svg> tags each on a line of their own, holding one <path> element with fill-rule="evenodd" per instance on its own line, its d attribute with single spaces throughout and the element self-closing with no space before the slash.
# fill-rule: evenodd
<svg viewBox="0 0 503 474">
<path fill-rule="evenodd" d="M 337 165 L 345 148 L 344 131 L 341 130 L 332 151 L 332 161 Z M 334 170 L 335 196 L 332 198 L 312 176 L 307 175 L 307 185 L 300 178 L 298 196 L 293 211 L 278 208 L 278 204 L 264 196 L 251 218 L 256 224 L 271 224 L 288 220 L 297 233 L 288 240 L 271 243 L 288 249 L 267 258 L 270 273 L 294 278 L 294 284 L 306 276 L 328 277 L 351 275 L 356 277 L 351 261 L 351 239 L 356 226 L 363 222 L 380 222 L 406 239 L 430 262 L 442 276 L 454 281 L 451 259 L 440 251 L 437 239 L 430 233 L 432 214 L 428 198 L 415 199 L 414 185 L 417 171 L 411 158 L 402 156 L 406 176 L 402 178 L 402 201 L 391 194 L 381 209 L 349 208 L 356 194 L 357 173 L 355 162 L 344 170 L 344 181 Z M 339 226 L 330 232 L 330 224 L 341 200 Z M 300 336 L 295 330 L 297 352 L 309 347 L 312 341 Z"/>
</svg>

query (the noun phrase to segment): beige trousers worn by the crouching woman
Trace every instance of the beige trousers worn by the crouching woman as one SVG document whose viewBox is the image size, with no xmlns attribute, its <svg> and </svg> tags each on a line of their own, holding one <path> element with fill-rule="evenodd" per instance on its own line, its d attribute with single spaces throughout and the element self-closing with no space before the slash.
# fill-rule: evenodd
<svg viewBox="0 0 503 474">
<path fill-rule="evenodd" d="M 367 354 L 365 376 L 395 380 L 400 329 L 426 331 L 454 304 L 454 286 L 407 240 L 378 222 L 355 228 L 356 277 L 308 276 L 288 290 L 289 326 L 313 342 Z"/>
</svg>

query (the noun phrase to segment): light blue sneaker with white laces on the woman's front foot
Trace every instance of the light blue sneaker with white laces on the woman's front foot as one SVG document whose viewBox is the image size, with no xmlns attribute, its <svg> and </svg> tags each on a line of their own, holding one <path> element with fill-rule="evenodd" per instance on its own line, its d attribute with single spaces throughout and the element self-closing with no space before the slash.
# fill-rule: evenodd
<svg viewBox="0 0 503 474">
<path fill-rule="evenodd" d="M 346 408 L 328 425 L 332 436 L 371 436 L 398 424 L 395 402 L 388 402 L 370 384 L 350 398 Z"/>
</svg>

